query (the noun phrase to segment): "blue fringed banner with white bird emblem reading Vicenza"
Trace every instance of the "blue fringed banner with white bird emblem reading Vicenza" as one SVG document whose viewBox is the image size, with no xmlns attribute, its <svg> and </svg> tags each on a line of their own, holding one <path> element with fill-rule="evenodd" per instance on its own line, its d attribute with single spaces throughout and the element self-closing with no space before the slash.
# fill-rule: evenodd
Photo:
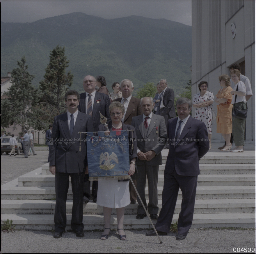
<svg viewBox="0 0 256 254">
<path fill-rule="evenodd" d="M 93 132 L 88 132 L 86 144 L 90 179 L 115 177 L 121 180 L 129 178 L 130 159 L 127 130 L 122 130 L 121 135 L 116 135 L 116 131 L 111 131 L 108 136 L 105 136 L 104 131 L 99 131 L 98 136 L 94 136 Z"/>
</svg>

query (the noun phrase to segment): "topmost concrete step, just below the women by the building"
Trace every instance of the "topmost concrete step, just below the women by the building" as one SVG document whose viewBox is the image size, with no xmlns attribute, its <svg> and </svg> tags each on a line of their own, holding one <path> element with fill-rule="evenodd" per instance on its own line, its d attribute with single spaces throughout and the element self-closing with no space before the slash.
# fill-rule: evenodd
<svg viewBox="0 0 256 254">
<path fill-rule="evenodd" d="M 226 155 L 208 155 L 208 153 L 202 157 L 199 164 L 255 164 L 255 155 L 247 155 L 246 153 L 230 153 L 226 152 Z M 165 164 L 167 155 L 162 155 L 162 163 Z"/>
</svg>

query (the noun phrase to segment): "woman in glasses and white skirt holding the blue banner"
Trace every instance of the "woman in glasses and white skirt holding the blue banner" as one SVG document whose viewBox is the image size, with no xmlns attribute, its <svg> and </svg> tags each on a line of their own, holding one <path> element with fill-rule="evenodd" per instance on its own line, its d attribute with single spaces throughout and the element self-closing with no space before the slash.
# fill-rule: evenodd
<svg viewBox="0 0 256 254">
<path fill-rule="evenodd" d="M 120 102 L 112 102 L 109 105 L 109 113 L 111 117 L 111 121 L 108 125 L 109 131 L 116 131 L 116 135 L 121 135 L 122 130 L 133 130 L 133 132 L 128 131 L 130 159 L 130 169 L 128 171 L 128 175 L 133 175 L 136 170 L 135 161 L 137 158 L 137 141 L 135 129 L 133 126 L 123 123 L 122 117 L 125 113 L 125 107 Z M 105 135 L 109 135 L 109 131 L 107 131 L 104 124 L 99 125 L 98 130 L 105 131 Z M 97 204 L 99 206 L 103 206 L 105 223 L 104 232 L 102 233 L 100 239 L 108 239 L 109 232 L 111 230 L 110 219 L 112 208 L 116 209 L 117 233 L 119 235 L 119 239 L 126 239 L 123 223 L 125 216 L 125 206 L 129 205 L 130 202 L 129 179 L 118 180 L 103 178 L 101 181 L 99 181 Z"/>
</svg>

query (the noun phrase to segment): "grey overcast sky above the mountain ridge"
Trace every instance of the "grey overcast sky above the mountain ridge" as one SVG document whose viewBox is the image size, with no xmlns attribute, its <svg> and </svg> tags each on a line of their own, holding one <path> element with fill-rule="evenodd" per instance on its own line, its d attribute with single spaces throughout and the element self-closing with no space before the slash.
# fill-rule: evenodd
<svg viewBox="0 0 256 254">
<path fill-rule="evenodd" d="M 1 21 L 26 23 L 72 12 L 115 19 L 131 15 L 191 26 L 191 0 L 1 0 Z"/>
</svg>

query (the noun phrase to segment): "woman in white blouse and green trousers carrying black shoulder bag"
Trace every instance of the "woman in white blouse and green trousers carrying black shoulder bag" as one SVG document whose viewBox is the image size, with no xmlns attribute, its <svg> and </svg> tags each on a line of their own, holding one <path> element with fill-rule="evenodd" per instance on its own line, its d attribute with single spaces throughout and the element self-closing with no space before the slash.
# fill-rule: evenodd
<svg viewBox="0 0 256 254">
<path fill-rule="evenodd" d="M 235 106 L 239 109 L 246 109 L 246 87 L 245 84 L 240 81 L 240 75 L 241 73 L 239 72 L 239 70 L 232 70 L 230 72 L 231 79 L 235 84 L 233 91 L 230 92 L 233 95 L 231 103 L 234 106 L 235 96 L 237 95 Z M 231 151 L 233 153 L 243 152 L 245 129 L 244 124 L 245 119 L 239 119 L 232 116 L 232 133 L 236 145 L 236 147 Z"/>
</svg>

